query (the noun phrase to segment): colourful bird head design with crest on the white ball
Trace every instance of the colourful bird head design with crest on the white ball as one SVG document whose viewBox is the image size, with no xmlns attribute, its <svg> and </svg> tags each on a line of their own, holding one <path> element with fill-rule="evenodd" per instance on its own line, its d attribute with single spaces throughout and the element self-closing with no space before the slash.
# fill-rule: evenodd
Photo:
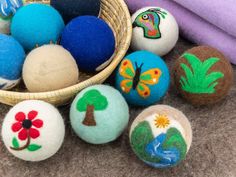
<svg viewBox="0 0 236 177">
<path fill-rule="evenodd" d="M 167 13 L 159 8 L 152 8 L 139 14 L 133 22 L 133 28 L 141 27 L 144 30 L 144 37 L 149 39 L 161 38 L 160 22 L 165 19 Z"/>
</svg>

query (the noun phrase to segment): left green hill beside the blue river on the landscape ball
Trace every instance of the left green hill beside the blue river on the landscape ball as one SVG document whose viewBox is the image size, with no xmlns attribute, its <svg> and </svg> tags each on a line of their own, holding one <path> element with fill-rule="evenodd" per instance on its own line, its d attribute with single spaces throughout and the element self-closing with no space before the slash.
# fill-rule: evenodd
<svg viewBox="0 0 236 177">
<path fill-rule="evenodd" d="M 151 157 L 146 152 L 146 145 L 154 139 L 151 127 L 147 121 L 139 123 L 131 134 L 131 146 L 135 154 L 142 160 L 158 163 L 160 158 Z"/>
</svg>

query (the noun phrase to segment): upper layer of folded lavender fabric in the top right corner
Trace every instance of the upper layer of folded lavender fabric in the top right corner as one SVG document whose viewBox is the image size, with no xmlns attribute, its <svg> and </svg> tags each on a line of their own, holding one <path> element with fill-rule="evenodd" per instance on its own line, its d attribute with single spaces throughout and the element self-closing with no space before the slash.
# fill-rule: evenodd
<svg viewBox="0 0 236 177">
<path fill-rule="evenodd" d="M 236 37 L 235 0 L 174 0 L 209 23 Z"/>
</svg>

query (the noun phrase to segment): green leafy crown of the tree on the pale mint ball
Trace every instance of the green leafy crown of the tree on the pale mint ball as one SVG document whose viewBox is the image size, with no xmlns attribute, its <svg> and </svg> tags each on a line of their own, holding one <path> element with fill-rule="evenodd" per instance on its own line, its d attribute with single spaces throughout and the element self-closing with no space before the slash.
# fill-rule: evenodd
<svg viewBox="0 0 236 177">
<path fill-rule="evenodd" d="M 98 90 L 93 89 L 87 91 L 82 98 L 77 102 L 77 110 L 84 112 L 88 105 L 93 105 L 95 111 L 105 110 L 108 106 L 108 101 Z"/>
</svg>

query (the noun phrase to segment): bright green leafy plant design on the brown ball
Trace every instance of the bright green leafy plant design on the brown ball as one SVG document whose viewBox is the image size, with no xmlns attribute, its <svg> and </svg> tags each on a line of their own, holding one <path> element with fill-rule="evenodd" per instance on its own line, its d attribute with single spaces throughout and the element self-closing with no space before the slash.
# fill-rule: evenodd
<svg viewBox="0 0 236 177">
<path fill-rule="evenodd" d="M 224 74 L 222 72 L 209 73 L 209 69 L 220 59 L 211 57 L 202 62 L 197 56 L 190 53 L 185 53 L 182 57 L 184 57 L 191 66 L 190 68 L 184 63 L 180 64 L 180 67 L 185 73 L 185 77 L 180 77 L 182 89 L 195 94 L 215 93 L 215 87 L 218 85 L 217 80 L 223 78 Z"/>
</svg>

